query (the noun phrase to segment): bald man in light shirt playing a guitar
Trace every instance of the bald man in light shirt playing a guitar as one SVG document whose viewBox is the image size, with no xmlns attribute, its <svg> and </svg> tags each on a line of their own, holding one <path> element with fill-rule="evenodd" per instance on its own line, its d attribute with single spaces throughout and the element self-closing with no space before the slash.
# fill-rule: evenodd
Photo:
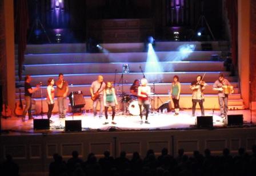
<svg viewBox="0 0 256 176">
<path fill-rule="evenodd" d="M 103 76 L 99 75 L 98 80 L 93 81 L 91 84 L 90 92 L 91 92 L 91 99 L 93 100 L 93 116 L 96 117 L 97 115 L 97 104 L 98 101 L 101 105 L 101 109 L 99 111 L 99 117 L 102 117 L 103 112 L 103 90 L 105 89 L 106 84 L 103 82 Z"/>
</svg>

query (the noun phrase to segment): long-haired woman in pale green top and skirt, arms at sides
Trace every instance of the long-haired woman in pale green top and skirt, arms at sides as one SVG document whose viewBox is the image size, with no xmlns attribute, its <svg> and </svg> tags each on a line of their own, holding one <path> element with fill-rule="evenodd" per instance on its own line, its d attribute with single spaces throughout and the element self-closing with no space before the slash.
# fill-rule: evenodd
<svg viewBox="0 0 256 176">
<path fill-rule="evenodd" d="M 106 122 L 103 125 L 108 124 L 107 122 L 107 110 L 109 107 L 112 108 L 112 122 L 111 124 L 117 124 L 114 122 L 115 118 L 115 105 L 117 105 L 117 96 L 115 96 L 115 89 L 112 86 L 111 82 L 107 82 L 106 88 L 103 90 L 103 101 L 104 101 L 104 107 L 105 107 L 105 117 Z"/>
</svg>

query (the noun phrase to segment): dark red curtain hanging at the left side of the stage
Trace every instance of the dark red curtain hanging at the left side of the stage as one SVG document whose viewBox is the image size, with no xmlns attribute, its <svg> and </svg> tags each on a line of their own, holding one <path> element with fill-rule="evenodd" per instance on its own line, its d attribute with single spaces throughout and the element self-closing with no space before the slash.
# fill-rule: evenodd
<svg viewBox="0 0 256 176">
<path fill-rule="evenodd" d="M 25 60 L 24 54 L 27 44 L 27 28 L 29 27 L 29 15 L 27 11 L 27 0 L 17 1 L 16 32 L 18 38 L 18 74 L 22 79 L 22 64 Z"/>
</svg>

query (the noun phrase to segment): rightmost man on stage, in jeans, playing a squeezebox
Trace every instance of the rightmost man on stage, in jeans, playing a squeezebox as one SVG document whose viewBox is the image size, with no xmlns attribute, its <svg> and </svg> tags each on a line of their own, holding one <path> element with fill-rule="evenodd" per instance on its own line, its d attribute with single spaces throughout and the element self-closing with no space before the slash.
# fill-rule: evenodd
<svg viewBox="0 0 256 176">
<path fill-rule="evenodd" d="M 227 116 L 227 103 L 229 99 L 229 94 L 225 94 L 223 92 L 223 85 L 231 85 L 227 79 L 225 79 L 224 75 L 221 73 L 219 75 L 219 79 L 215 81 L 213 84 L 213 90 L 218 91 L 218 97 L 219 97 L 219 109 L 221 110 L 221 117 Z M 232 89 L 231 93 L 233 93 L 234 90 Z"/>
</svg>

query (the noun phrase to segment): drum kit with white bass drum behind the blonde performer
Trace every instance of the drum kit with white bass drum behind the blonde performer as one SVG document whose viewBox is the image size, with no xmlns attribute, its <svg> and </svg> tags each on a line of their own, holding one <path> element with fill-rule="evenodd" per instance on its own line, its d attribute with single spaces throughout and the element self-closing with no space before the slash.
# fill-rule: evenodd
<svg viewBox="0 0 256 176">
<path fill-rule="evenodd" d="M 122 114 L 139 116 L 140 111 L 139 111 L 139 101 L 137 96 L 133 95 L 132 93 L 125 93 L 125 92 L 120 93 L 118 96 L 119 96 L 119 112 L 122 112 Z M 143 113 L 143 109 L 144 109 L 143 106 L 141 108 Z"/>
</svg>

